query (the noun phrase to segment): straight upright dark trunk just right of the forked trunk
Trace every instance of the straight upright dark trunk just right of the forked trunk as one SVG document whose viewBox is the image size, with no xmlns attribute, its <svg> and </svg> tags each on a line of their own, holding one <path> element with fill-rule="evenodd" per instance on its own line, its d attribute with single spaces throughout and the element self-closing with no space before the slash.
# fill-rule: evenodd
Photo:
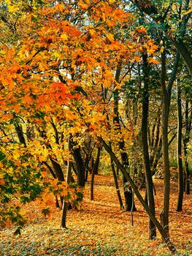
<svg viewBox="0 0 192 256">
<path fill-rule="evenodd" d="M 182 211 L 183 207 L 183 165 L 182 165 L 182 109 L 181 109 L 181 89 L 177 80 L 177 166 L 179 171 L 178 178 L 178 200 L 177 211 Z"/>
</svg>

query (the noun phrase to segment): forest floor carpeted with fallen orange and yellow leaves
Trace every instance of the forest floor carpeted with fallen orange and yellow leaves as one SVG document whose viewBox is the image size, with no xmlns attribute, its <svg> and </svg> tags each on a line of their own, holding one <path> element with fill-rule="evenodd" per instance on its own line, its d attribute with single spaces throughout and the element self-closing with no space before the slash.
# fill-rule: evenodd
<svg viewBox="0 0 192 256">
<path fill-rule="evenodd" d="M 163 201 L 163 181 L 154 183 L 158 217 Z M 122 192 L 122 184 L 120 190 Z M 14 227 L 0 231 L 0 255 L 169 255 L 159 233 L 155 241 L 148 240 L 147 214 L 137 199 L 134 226 L 131 226 L 130 212 L 119 209 L 111 176 L 96 176 L 94 200 L 89 197 L 90 181 L 85 187 L 82 210 L 67 213 L 67 229 L 60 228 L 61 210 L 53 207 L 52 214 L 45 218 L 37 203 L 29 203 L 25 206 L 28 223 L 21 235 L 13 235 Z M 182 212 L 175 211 L 176 205 L 177 183 L 172 181 L 171 240 L 180 255 L 189 256 L 192 255 L 191 195 L 184 195 Z"/>
</svg>

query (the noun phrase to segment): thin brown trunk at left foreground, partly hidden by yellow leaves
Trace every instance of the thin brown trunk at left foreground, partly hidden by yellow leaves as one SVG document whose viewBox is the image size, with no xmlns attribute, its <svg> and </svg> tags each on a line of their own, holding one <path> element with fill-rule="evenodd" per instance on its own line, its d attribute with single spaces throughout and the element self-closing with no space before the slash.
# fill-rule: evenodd
<svg viewBox="0 0 192 256">
<path fill-rule="evenodd" d="M 69 138 L 69 151 L 72 150 L 72 141 Z M 67 165 L 67 172 L 66 172 L 66 183 L 69 184 L 71 181 L 71 175 L 72 175 L 72 162 L 68 161 Z M 68 202 L 64 199 L 63 201 L 63 207 L 61 212 L 61 227 L 66 228 L 66 211 L 67 211 Z"/>
</svg>

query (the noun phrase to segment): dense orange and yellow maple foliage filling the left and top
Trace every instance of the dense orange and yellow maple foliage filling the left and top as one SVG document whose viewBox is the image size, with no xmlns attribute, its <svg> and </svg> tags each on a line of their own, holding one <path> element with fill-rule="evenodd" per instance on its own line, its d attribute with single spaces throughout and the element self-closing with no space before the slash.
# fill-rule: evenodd
<svg viewBox="0 0 192 256">
<path fill-rule="evenodd" d="M 86 174 L 91 176 L 91 161 L 102 146 L 99 138 L 119 161 L 128 152 L 136 170 L 131 178 L 138 189 L 145 187 L 139 129 L 146 81 L 142 65 L 147 56 L 150 107 L 158 115 L 156 79 L 165 53 L 163 39 L 148 32 L 147 18 L 138 18 L 126 1 L 113 0 L 4 0 L 0 7 L 0 225 L 15 224 L 20 233 L 27 219 L 23 209 L 31 201 L 45 217 L 55 214 L 54 200 L 60 208 L 66 202 L 80 210 Z M 173 39 L 174 31 L 169 35 Z M 161 135 L 154 139 L 160 121 L 153 127 L 148 129 L 150 159 L 162 146 Z M 106 154 L 101 150 L 104 168 L 112 165 Z"/>
</svg>

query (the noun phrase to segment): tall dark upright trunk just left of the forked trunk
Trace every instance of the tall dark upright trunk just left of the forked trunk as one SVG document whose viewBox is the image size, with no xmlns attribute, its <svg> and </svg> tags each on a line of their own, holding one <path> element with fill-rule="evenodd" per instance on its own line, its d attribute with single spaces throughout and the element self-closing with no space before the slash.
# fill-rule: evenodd
<svg viewBox="0 0 192 256">
<path fill-rule="evenodd" d="M 155 216 L 155 200 L 153 195 L 153 180 L 152 173 L 150 171 L 150 157 L 147 140 L 147 128 L 148 128 L 148 111 L 149 111 L 149 67 L 147 63 L 147 54 L 143 54 L 143 74 L 144 74 L 144 90 L 142 94 L 142 154 L 145 164 L 145 180 L 147 189 L 147 203 Z M 154 133 L 154 132 L 153 132 Z M 153 135 L 154 137 L 154 135 Z M 149 238 L 156 238 L 155 224 L 149 219 Z"/>
</svg>

